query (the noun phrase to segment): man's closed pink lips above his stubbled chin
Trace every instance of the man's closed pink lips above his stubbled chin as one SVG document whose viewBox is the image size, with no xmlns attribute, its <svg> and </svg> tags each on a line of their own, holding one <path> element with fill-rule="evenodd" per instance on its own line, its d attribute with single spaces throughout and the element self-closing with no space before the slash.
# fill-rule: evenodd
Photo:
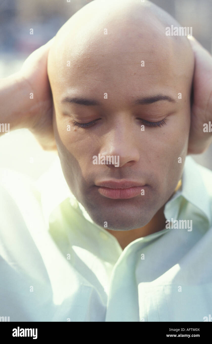
<svg viewBox="0 0 212 344">
<path fill-rule="evenodd" d="M 147 185 L 129 180 L 110 180 L 99 182 L 96 186 L 98 187 L 98 192 L 102 196 L 118 200 L 141 195 L 141 190 Z"/>
</svg>

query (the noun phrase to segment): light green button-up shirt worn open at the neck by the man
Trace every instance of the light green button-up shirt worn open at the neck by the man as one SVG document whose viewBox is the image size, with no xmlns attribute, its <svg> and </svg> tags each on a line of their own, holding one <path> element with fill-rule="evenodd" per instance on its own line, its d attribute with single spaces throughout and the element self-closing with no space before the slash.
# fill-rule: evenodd
<svg viewBox="0 0 212 344">
<path fill-rule="evenodd" d="M 211 321 L 212 172 L 186 158 L 165 228 L 132 241 L 93 223 L 59 159 L 36 183 L 0 173 L 0 316 L 10 321 Z"/>
</svg>

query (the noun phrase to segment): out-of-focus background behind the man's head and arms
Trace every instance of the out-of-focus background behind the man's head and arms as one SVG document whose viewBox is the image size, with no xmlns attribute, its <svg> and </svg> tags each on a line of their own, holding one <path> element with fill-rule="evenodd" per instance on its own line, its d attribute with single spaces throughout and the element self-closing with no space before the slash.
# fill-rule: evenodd
<svg viewBox="0 0 212 344">
<path fill-rule="evenodd" d="M 51 39 L 71 15 L 89 2 L 0 0 L 0 78 L 17 72 L 31 52 Z M 169 12 L 182 26 L 192 26 L 193 36 L 212 53 L 212 0 L 152 2 Z M 55 159 L 55 154 L 43 151 L 26 129 L 5 134 L 0 142 L 0 167 L 33 178 L 38 178 Z M 212 170 L 212 145 L 207 152 L 193 158 Z"/>
</svg>

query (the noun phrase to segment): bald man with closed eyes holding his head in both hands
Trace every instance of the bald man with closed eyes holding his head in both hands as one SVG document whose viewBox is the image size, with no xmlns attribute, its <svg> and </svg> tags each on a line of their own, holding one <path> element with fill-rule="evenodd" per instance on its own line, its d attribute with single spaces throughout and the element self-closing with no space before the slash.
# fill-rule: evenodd
<svg viewBox="0 0 212 344">
<path fill-rule="evenodd" d="M 180 26 L 150 2 L 95 0 L 45 49 L 51 45 L 52 101 L 40 52 L 15 75 L 22 97 L 26 85 L 37 88 L 30 111 L 25 104 L 21 116 L 11 115 L 12 128 L 27 127 L 46 149 L 56 146 L 60 162 L 36 191 L 21 178 L 17 190 L 2 188 L 9 204 L 2 209 L 4 290 L 18 280 L 23 301 L 14 307 L 1 295 L 13 321 L 17 314 L 22 321 L 209 319 L 212 172 L 187 155 L 211 142 L 202 134 L 211 89 L 201 81 L 200 99 L 193 84 L 192 104 L 191 89 L 195 61 L 207 71 L 212 63 L 195 42 L 194 59 L 187 37 L 167 36 L 171 25 Z M 32 61 L 43 64 L 39 77 Z M 11 209 L 18 225 L 7 224 Z M 19 258 L 9 244 L 14 233 Z"/>
</svg>

